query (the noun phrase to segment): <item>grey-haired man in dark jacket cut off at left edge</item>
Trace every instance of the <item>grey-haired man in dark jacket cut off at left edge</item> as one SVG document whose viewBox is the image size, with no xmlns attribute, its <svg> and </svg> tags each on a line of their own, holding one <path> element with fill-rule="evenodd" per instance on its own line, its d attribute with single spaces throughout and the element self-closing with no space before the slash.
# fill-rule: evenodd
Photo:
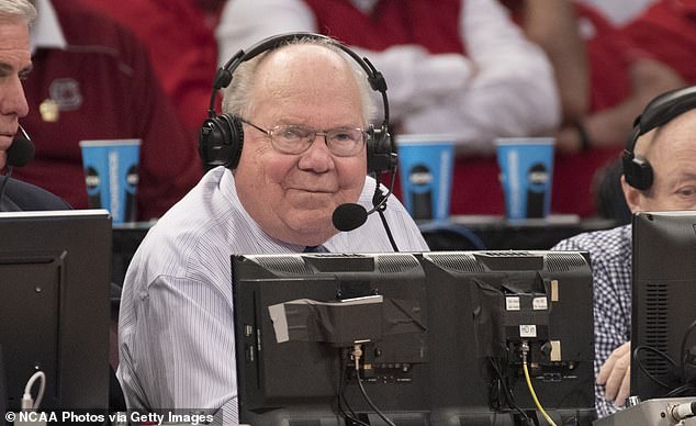
<svg viewBox="0 0 696 426">
<path fill-rule="evenodd" d="M 33 146 L 19 119 L 29 113 L 22 81 L 32 70 L 29 26 L 36 10 L 26 0 L 0 2 L 0 212 L 64 210 L 69 205 L 38 187 L 10 178 L 12 167 L 31 160 Z"/>
</svg>

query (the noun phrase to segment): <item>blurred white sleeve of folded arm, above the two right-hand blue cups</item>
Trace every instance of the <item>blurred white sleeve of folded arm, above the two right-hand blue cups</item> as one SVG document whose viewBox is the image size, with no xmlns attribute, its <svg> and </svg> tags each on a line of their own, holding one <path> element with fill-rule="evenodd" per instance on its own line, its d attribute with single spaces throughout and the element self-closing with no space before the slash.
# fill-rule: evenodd
<svg viewBox="0 0 696 426">
<path fill-rule="evenodd" d="M 493 0 L 465 0 L 461 27 L 475 75 L 403 123 L 407 133 L 454 133 L 459 152 L 492 153 L 502 136 L 539 135 L 561 117 L 548 58 Z"/>
</svg>

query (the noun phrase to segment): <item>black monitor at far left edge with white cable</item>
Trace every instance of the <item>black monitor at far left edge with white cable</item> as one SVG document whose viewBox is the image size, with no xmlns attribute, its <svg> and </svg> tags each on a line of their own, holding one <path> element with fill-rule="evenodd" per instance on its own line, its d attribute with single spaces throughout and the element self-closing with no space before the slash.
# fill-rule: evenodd
<svg viewBox="0 0 696 426">
<path fill-rule="evenodd" d="M 46 375 L 40 410 L 108 408 L 110 265 L 106 211 L 0 213 L 8 410 L 19 411 L 37 370 Z"/>
</svg>

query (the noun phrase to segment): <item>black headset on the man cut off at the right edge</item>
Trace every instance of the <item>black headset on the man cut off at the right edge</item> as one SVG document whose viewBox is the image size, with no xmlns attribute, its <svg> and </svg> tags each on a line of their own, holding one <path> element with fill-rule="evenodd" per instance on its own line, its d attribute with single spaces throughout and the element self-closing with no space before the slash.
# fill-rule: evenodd
<svg viewBox="0 0 696 426">
<path fill-rule="evenodd" d="M 648 103 L 642 114 L 636 117 L 633 131 L 621 154 L 624 177 L 628 184 L 641 191 L 652 186 L 653 172 L 650 162 L 633 152 L 638 138 L 694 108 L 696 108 L 696 86 L 669 91 Z"/>
</svg>

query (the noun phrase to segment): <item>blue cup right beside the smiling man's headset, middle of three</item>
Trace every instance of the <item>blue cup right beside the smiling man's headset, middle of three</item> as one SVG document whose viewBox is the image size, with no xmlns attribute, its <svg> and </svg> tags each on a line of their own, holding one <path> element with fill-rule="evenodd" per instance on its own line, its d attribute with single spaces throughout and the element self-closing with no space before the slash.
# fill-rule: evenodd
<svg viewBox="0 0 696 426">
<path fill-rule="evenodd" d="M 452 191 L 452 135 L 398 135 L 404 206 L 416 220 L 447 220 Z"/>
</svg>

